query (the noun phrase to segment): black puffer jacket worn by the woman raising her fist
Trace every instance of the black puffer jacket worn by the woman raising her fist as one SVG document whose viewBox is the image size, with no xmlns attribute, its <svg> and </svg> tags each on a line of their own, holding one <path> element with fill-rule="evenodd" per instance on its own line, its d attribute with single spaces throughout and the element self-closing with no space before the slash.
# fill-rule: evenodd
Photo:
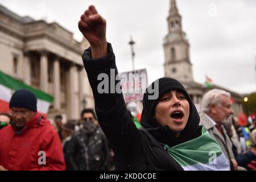
<svg viewBox="0 0 256 182">
<path fill-rule="evenodd" d="M 113 93 L 111 86 L 117 85 L 115 80 L 118 74 L 115 66 L 115 56 L 112 46 L 108 44 L 108 55 L 100 59 L 92 59 L 91 51 L 87 49 L 82 56 L 85 70 L 88 74 L 90 86 L 93 90 L 95 108 L 98 121 L 104 131 L 110 145 L 115 153 L 115 164 L 117 170 L 183 170 L 179 164 L 164 150 L 159 142 L 165 142 L 169 146 L 182 143 L 200 135 L 199 115 L 195 106 L 189 100 L 190 114 L 186 133 L 181 133 L 181 139 L 173 141 L 173 135 L 168 127 L 161 127 L 154 123 L 154 119 L 147 112 L 147 105 L 143 103 L 143 126 L 144 130 L 138 130 L 131 122 L 130 115 L 126 109 L 122 93 Z M 97 90 L 102 80 L 97 77 L 103 73 L 109 76 L 109 92 L 100 94 Z M 115 75 L 113 75 L 113 73 Z M 159 96 L 160 97 L 160 96 Z M 153 139 L 152 139 L 152 136 Z M 165 140 L 165 138 L 168 138 Z M 157 139 L 157 140 L 156 140 Z"/>
</svg>

